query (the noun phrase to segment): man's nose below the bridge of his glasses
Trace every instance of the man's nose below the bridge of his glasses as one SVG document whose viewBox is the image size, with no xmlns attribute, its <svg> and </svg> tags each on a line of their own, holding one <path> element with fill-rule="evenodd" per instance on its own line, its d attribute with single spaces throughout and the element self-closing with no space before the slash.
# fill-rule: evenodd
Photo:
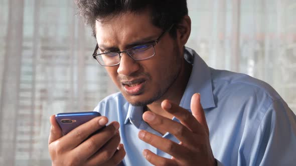
<svg viewBox="0 0 296 166">
<path fill-rule="evenodd" d="M 132 59 L 126 52 L 121 53 L 119 67 L 117 73 L 122 75 L 130 75 L 139 70 L 139 64 L 136 60 Z"/>
</svg>

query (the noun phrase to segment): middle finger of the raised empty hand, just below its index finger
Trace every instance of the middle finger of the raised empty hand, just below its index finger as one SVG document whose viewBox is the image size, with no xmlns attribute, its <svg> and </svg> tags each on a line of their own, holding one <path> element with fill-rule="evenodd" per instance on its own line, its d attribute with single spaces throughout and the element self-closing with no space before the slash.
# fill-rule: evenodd
<svg viewBox="0 0 296 166">
<path fill-rule="evenodd" d="M 189 145 L 191 142 L 196 141 L 195 137 L 192 136 L 193 132 L 189 130 L 185 125 L 175 120 L 169 119 L 151 111 L 145 111 L 143 113 L 143 120 L 153 125 L 154 129 L 156 130 L 165 130 L 167 132 L 170 132 L 186 145 Z"/>
</svg>

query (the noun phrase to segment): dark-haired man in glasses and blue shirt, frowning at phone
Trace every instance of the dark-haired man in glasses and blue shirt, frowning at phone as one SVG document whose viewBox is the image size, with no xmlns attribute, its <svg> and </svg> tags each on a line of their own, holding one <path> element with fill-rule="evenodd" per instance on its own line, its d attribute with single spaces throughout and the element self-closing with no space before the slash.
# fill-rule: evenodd
<svg viewBox="0 0 296 166">
<path fill-rule="evenodd" d="M 64 136 L 51 116 L 53 165 L 296 163 L 296 117 L 272 87 L 210 68 L 185 47 L 186 0 L 76 2 L 97 40 L 93 56 L 120 92 Z"/>
</svg>

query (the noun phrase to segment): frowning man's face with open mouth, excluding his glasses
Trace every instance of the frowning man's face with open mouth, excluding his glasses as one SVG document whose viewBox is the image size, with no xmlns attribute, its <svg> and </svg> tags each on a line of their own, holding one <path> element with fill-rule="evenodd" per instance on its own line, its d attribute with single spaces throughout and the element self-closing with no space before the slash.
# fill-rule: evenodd
<svg viewBox="0 0 296 166">
<path fill-rule="evenodd" d="M 156 40 L 163 30 L 152 24 L 150 13 L 122 13 L 104 21 L 96 21 L 96 38 L 100 52 L 122 51 L 131 46 Z M 120 64 L 106 66 L 113 82 L 125 99 L 133 105 L 146 105 L 166 96 L 176 80 L 183 61 L 180 46 L 169 33 L 154 46 L 156 54 L 135 61 L 121 53 Z"/>
</svg>

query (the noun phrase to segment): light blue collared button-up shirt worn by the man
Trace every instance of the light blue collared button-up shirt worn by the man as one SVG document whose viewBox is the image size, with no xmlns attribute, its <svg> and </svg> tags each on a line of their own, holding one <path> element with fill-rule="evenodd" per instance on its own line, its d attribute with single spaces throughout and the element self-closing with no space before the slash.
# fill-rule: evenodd
<svg viewBox="0 0 296 166">
<path fill-rule="evenodd" d="M 296 165 L 296 116 L 270 85 L 246 74 L 213 69 L 190 48 L 184 57 L 193 69 L 180 106 L 191 111 L 191 96 L 201 93 L 218 165 Z M 151 128 L 142 119 L 143 107 L 132 106 L 120 92 L 104 98 L 94 110 L 119 122 L 125 165 L 151 165 L 143 149 L 171 157 L 140 140 L 141 129 L 179 142 Z"/>
</svg>

